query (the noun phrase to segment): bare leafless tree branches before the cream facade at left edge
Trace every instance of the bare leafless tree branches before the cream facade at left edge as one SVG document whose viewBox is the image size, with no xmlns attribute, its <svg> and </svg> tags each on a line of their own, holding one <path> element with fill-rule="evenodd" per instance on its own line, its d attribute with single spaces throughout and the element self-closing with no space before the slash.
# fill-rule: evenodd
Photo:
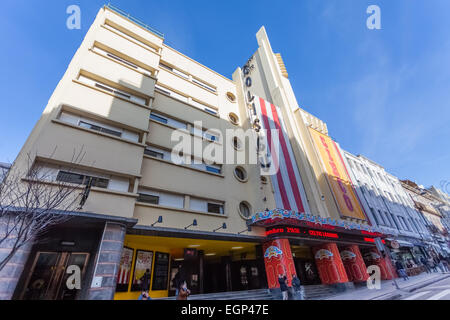
<svg viewBox="0 0 450 320">
<path fill-rule="evenodd" d="M 71 172 L 86 155 L 84 148 L 74 150 L 71 163 L 64 170 Z M 56 153 L 52 152 L 51 157 Z M 13 168 L 0 183 L 0 247 L 11 252 L 0 260 L 0 271 L 14 254 L 33 243 L 50 227 L 70 219 L 67 212 L 74 211 L 80 202 L 82 185 L 57 181 L 51 170 L 27 155 L 26 170 Z"/>
</svg>

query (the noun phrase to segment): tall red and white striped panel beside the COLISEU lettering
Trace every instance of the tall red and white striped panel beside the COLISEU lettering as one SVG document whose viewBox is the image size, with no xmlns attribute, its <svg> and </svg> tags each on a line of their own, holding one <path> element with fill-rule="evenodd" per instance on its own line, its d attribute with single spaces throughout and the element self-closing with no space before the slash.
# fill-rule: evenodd
<svg viewBox="0 0 450 320">
<path fill-rule="evenodd" d="M 279 168 L 276 174 L 271 176 L 276 205 L 279 209 L 309 213 L 305 190 L 281 110 L 258 96 L 255 96 L 253 101 L 261 127 L 267 130 L 266 146 L 269 147 L 272 165 Z M 270 130 L 278 130 L 279 141 L 275 141 L 277 135 Z"/>
</svg>

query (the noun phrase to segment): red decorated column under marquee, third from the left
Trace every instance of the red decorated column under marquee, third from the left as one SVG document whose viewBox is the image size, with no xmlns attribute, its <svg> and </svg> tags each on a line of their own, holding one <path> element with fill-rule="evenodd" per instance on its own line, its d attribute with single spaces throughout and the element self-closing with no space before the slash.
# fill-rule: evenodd
<svg viewBox="0 0 450 320">
<path fill-rule="evenodd" d="M 341 259 L 349 281 L 367 281 L 369 274 L 357 245 L 350 245 L 341 250 Z"/>
</svg>

